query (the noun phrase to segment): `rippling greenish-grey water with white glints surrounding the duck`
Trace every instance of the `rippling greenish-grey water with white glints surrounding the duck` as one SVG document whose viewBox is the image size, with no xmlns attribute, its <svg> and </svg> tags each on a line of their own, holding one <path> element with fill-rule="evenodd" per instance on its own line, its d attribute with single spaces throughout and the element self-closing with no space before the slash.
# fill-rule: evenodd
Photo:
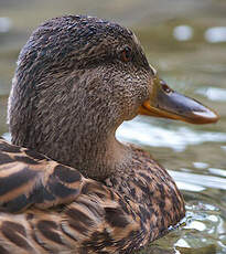
<svg viewBox="0 0 226 254">
<path fill-rule="evenodd" d="M 34 14 L 35 13 L 35 14 Z M 0 2 L 0 135 L 15 60 L 40 22 L 63 13 L 114 19 L 136 31 L 149 62 L 173 88 L 215 108 L 214 125 L 137 117 L 117 131 L 169 169 L 186 201 L 185 226 L 143 253 L 226 253 L 226 2 L 223 0 Z"/>
</svg>

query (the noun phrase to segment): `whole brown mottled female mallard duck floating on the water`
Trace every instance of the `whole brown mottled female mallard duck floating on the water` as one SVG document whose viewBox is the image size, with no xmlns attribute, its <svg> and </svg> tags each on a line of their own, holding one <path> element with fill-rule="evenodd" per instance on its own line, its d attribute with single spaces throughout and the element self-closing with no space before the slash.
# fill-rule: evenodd
<svg viewBox="0 0 226 254">
<path fill-rule="evenodd" d="M 115 138 L 138 114 L 218 118 L 161 81 L 119 24 L 67 15 L 33 32 L 9 99 L 13 145 L 0 140 L 0 253 L 130 253 L 184 216 L 165 169 Z"/>
</svg>

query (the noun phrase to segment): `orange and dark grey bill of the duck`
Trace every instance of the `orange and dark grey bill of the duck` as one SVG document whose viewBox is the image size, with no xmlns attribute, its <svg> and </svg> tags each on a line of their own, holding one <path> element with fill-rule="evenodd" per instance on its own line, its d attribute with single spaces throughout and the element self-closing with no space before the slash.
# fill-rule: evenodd
<svg viewBox="0 0 226 254">
<path fill-rule="evenodd" d="M 154 78 L 150 99 L 139 108 L 140 115 L 164 117 L 191 124 L 216 123 L 219 116 L 197 100 L 171 89 L 165 82 Z"/>
</svg>

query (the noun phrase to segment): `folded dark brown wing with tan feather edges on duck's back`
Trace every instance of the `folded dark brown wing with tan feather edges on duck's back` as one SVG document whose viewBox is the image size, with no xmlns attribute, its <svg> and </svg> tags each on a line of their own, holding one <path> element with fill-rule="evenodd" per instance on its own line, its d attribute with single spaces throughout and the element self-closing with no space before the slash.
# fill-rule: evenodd
<svg viewBox="0 0 226 254">
<path fill-rule="evenodd" d="M 1 211 L 66 204 L 79 194 L 84 181 L 78 170 L 0 139 Z"/>
</svg>

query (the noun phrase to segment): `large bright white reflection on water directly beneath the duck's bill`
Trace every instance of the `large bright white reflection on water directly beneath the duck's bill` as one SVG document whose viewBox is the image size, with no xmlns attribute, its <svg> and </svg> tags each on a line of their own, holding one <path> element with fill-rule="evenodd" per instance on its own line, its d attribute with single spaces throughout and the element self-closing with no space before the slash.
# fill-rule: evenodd
<svg viewBox="0 0 226 254">
<path fill-rule="evenodd" d="M 123 141 L 134 141 L 141 146 L 170 147 L 175 151 L 183 151 L 190 145 L 206 141 L 226 142 L 226 133 L 193 130 L 184 126 L 161 126 L 151 123 L 151 119 L 144 117 L 126 121 L 118 128 L 117 137 Z"/>
</svg>

